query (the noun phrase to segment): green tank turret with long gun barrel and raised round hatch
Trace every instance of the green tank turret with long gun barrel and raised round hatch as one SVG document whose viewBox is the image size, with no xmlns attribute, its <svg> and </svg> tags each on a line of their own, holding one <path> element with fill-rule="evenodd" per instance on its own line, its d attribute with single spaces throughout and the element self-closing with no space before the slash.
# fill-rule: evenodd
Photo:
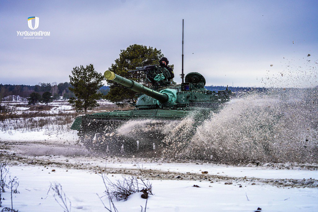
<svg viewBox="0 0 318 212">
<path fill-rule="evenodd" d="M 209 91 L 204 88 L 205 79 L 197 72 L 188 73 L 185 82 L 181 85 L 169 85 L 159 87 L 156 90 L 148 88 L 141 83 L 121 77 L 114 72 L 106 71 L 105 78 L 117 82 L 137 94 L 137 102 L 132 103 L 139 109 L 152 108 L 187 108 L 207 107 L 217 108 L 220 104 L 228 101 L 231 90 Z"/>
</svg>

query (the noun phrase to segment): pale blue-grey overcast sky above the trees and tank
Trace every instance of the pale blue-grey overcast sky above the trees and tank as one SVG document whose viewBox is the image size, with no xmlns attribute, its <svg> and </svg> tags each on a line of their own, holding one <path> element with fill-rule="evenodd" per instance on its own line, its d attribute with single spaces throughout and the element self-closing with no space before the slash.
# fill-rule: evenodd
<svg viewBox="0 0 318 212">
<path fill-rule="evenodd" d="M 263 86 L 267 77 L 267 86 L 317 85 L 317 9 L 317 1 L 2 0 L 0 83 L 65 82 L 90 63 L 103 73 L 130 44 L 161 49 L 180 83 L 184 19 L 185 74 L 200 72 L 207 85 Z M 50 36 L 17 36 L 33 31 L 32 16 L 34 31 Z"/>
</svg>

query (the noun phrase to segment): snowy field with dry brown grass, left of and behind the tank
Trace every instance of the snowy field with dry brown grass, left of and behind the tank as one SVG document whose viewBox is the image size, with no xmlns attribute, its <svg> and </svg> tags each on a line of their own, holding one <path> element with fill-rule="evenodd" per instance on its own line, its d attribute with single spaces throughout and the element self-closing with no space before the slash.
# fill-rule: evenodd
<svg viewBox="0 0 318 212">
<path fill-rule="evenodd" d="M 54 102 L 53 102 L 54 103 Z M 62 104 L 61 104 L 62 103 Z M 53 107 L 67 106 L 67 102 L 59 102 L 58 105 L 6 104 L 3 113 L 0 113 L 0 130 L 8 133 L 14 131 L 34 132 L 44 131 L 44 134 L 65 133 L 70 131 L 75 117 L 79 114 L 74 110 L 53 110 Z M 29 107 L 28 110 L 18 111 L 17 107 Z M 117 105 L 101 104 L 89 111 L 88 114 L 107 112 L 113 110 L 129 110 L 130 106 L 119 107 Z"/>
</svg>

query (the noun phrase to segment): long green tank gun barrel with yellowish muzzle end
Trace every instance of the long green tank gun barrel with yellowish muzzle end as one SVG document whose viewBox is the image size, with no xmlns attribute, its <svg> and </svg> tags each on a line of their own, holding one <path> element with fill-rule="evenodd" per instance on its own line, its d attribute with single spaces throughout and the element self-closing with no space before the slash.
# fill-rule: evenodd
<svg viewBox="0 0 318 212">
<path fill-rule="evenodd" d="M 133 91 L 138 92 L 138 93 L 144 93 L 147 96 L 150 96 L 154 99 L 157 99 L 160 103 L 164 104 L 164 103 L 168 102 L 168 100 L 169 100 L 169 97 L 167 94 L 152 90 L 151 88 L 145 87 L 144 85 L 142 85 L 134 80 L 121 77 L 121 76 L 115 74 L 114 72 L 106 71 L 104 73 L 104 76 L 106 79 L 117 82 L 117 83 L 127 87 L 130 90 L 133 90 Z"/>
</svg>

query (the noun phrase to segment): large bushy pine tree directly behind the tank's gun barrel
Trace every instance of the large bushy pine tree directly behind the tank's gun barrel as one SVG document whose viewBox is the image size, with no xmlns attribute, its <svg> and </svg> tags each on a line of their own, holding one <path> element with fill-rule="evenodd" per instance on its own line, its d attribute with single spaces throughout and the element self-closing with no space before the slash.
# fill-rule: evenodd
<svg viewBox="0 0 318 212">
<path fill-rule="evenodd" d="M 127 79 L 142 83 L 145 78 L 143 72 L 128 73 L 127 71 L 135 70 L 139 66 L 156 65 L 162 57 L 161 50 L 150 46 L 133 44 L 128 46 L 126 50 L 121 50 L 119 58 L 115 60 L 115 64 L 112 64 L 108 70 Z M 107 84 L 110 90 L 106 95 L 106 99 L 117 105 L 123 105 L 133 100 L 136 94 L 136 92 L 111 80 L 107 80 Z"/>
</svg>

